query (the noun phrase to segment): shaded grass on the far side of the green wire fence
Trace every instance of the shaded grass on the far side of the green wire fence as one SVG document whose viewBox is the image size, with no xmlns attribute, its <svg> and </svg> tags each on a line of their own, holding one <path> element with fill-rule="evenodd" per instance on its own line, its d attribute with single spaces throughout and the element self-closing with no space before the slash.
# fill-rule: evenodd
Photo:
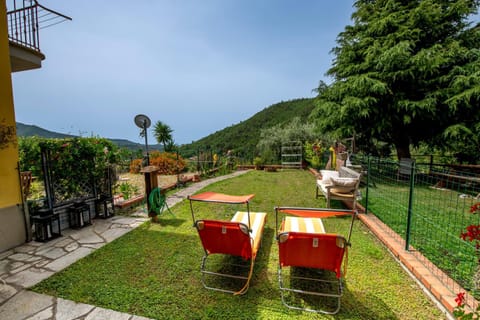
<svg viewBox="0 0 480 320">
<path fill-rule="evenodd" d="M 473 243 L 460 238 L 465 228 L 480 223 L 478 215 L 469 213 L 476 200 L 459 198 L 459 192 L 431 188 L 432 183 L 417 183 L 412 203 L 410 245 L 437 267 L 475 292 L 478 256 Z M 365 192 L 364 192 L 365 193 Z M 404 239 L 407 230 L 409 185 L 387 179 L 369 189 L 368 210 Z M 365 199 L 363 201 L 365 205 Z M 478 291 L 478 290 L 477 290 Z"/>
</svg>

